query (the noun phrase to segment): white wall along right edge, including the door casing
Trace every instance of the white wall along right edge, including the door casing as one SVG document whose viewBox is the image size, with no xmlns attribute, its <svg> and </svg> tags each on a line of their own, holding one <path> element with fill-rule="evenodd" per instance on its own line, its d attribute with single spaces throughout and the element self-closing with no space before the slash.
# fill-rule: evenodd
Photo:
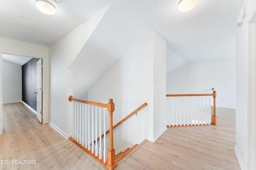
<svg viewBox="0 0 256 170">
<path fill-rule="evenodd" d="M 246 18 L 236 33 L 236 146 L 242 170 L 256 169 L 255 0 L 245 0 Z M 253 24 L 254 22 L 254 24 Z M 253 28 L 254 27 L 254 28 Z M 254 29 L 254 30 L 253 30 Z"/>
</svg>

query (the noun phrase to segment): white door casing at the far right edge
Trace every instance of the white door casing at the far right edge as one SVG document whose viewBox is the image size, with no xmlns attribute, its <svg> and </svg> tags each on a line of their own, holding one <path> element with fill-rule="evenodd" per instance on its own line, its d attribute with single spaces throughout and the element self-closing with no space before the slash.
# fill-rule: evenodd
<svg viewBox="0 0 256 170">
<path fill-rule="evenodd" d="M 246 111 L 246 147 L 245 162 L 243 168 L 256 168 L 256 5 L 250 12 L 243 24 L 246 24 L 246 57 L 247 57 L 247 109 Z M 236 120 L 239 121 L 239 120 Z M 241 167 L 242 168 L 242 167 Z"/>
</svg>

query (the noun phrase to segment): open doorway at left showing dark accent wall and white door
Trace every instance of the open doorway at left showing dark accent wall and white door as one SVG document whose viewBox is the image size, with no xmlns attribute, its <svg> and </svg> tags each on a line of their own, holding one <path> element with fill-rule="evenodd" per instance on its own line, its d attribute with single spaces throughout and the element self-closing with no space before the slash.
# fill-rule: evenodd
<svg viewBox="0 0 256 170">
<path fill-rule="evenodd" d="M 3 54 L 3 104 L 22 102 L 42 123 L 42 59 Z"/>
</svg>

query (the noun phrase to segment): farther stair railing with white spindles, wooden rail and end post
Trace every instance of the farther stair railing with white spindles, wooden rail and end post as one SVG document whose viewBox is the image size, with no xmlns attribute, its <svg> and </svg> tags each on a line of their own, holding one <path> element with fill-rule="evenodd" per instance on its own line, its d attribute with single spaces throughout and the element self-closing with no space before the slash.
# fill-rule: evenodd
<svg viewBox="0 0 256 170">
<path fill-rule="evenodd" d="M 191 125 L 217 125 L 216 121 L 216 91 L 212 94 L 167 94 L 167 127 Z M 213 97 L 213 113 L 212 102 Z"/>
</svg>

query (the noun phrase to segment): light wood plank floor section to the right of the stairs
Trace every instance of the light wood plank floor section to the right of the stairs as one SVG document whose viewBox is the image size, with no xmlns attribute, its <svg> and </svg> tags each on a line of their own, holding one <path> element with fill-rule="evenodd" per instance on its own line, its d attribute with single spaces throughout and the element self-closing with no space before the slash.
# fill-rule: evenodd
<svg viewBox="0 0 256 170">
<path fill-rule="evenodd" d="M 116 170 L 240 170 L 235 109 L 217 108 L 217 126 L 168 128 L 147 141 Z"/>
</svg>

